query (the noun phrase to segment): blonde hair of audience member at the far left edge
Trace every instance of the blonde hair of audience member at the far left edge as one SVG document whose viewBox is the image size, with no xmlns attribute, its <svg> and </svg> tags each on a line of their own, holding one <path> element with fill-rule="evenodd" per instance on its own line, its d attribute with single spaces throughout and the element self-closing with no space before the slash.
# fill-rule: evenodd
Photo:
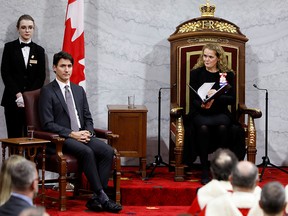
<svg viewBox="0 0 288 216">
<path fill-rule="evenodd" d="M 11 175 L 10 170 L 14 169 L 14 166 L 22 161 L 26 160 L 20 155 L 11 155 L 6 159 L 1 167 L 0 174 L 0 205 L 3 205 L 10 197 L 11 194 Z"/>
</svg>

